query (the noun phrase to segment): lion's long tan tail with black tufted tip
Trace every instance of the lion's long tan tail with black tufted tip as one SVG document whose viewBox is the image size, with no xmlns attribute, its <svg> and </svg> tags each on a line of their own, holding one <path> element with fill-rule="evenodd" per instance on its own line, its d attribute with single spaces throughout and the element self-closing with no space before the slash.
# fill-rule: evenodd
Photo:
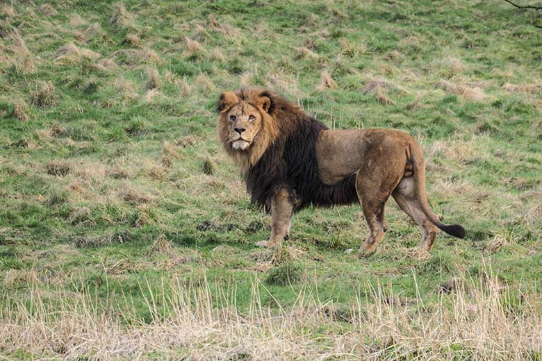
<svg viewBox="0 0 542 361">
<path fill-rule="evenodd" d="M 465 237 L 465 228 L 459 224 L 446 225 L 429 209 L 427 193 L 425 192 L 425 164 L 423 161 L 422 150 L 418 144 L 411 144 L 411 162 L 413 165 L 413 177 L 416 181 L 416 197 L 420 203 L 420 208 L 425 213 L 432 224 L 441 228 L 445 233 L 458 238 Z"/>
</svg>

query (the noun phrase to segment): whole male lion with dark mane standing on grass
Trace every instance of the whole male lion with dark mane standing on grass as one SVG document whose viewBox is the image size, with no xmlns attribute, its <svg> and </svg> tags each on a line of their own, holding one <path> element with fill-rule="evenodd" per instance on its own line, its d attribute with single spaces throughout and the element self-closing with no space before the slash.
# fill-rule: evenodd
<svg viewBox="0 0 542 361">
<path fill-rule="evenodd" d="M 425 165 L 410 135 L 391 129 L 330 130 L 299 106 L 263 89 L 224 92 L 217 131 L 240 167 L 252 203 L 271 212 L 271 237 L 257 246 L 280 246 L 292 215 L 308 205 L 361 203 L 370 253 L 388 230 L 384 205 L 393 196 L 423 230 L 420 248 L 432 249 L 437 227 L 454 237 L 465 229 L 446 226 L 429 209 Z"/>
</svg>

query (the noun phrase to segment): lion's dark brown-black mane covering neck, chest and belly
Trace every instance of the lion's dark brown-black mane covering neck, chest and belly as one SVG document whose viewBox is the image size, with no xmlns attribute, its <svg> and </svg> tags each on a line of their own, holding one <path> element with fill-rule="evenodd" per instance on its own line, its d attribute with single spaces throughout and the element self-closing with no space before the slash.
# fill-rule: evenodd
<svg viewBox="0 0 542 361">
<path fill-rule="evenodd" d="M 281 187 L 290 189 L 296 210 L 358 201 L 355 174 L 334 185 L 325 185 L 320 178 L 316 141 L 327 127 L 281 96 L 268 91 L 261 94 L 271 99 L 269 113 L 277 121 L 279 132 L 260 160 L 245 173 L 252 203 L 270 210 L 271 196 Z"/>
</svg>

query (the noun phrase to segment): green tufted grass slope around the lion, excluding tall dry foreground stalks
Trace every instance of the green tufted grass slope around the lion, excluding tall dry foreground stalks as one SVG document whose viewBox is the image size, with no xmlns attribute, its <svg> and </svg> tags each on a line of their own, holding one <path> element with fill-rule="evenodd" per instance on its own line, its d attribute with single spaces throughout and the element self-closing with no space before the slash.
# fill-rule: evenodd
<svg viewBox="0 0 542 361">
<path fill-rule="evenodd" d="M 414 275 L 432 304 L 483 263 L 508 287 L 542 292 L 536 11 L 504 1 L 125 1 L 127 13 L 109 1 L 45 4 L 0 6 L 3 293 L 132 294 L 148 319 L 140 285 L 173 276 L 234 283 L 243 312 L 255 280 L 277 308 L 306 283 L 337 305 L 365 283 L 411 299 Z M 320 87 L 324 71 L 336 87 Z M 270 87 L 333 128 L 415 136 L 431 206 L 466 239 L 441 233 L 420 257 L 420 228 L 391 201 L 391 230 L 369 258 L 345 253 L 366 235 L 357 206 L 299 212 L 280 260 L 256 250 L 270 219 L 215 135 L 218 96 L 242 85 Z"/>
</svg>

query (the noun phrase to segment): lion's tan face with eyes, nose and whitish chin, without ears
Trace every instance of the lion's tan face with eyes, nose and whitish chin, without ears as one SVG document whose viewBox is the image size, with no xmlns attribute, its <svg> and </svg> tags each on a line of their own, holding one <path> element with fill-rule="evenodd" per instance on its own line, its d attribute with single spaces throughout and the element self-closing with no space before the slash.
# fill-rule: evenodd
<svg viewBox="0 0 542 361">
<path fill-rule="evenodd" d="M 222 121 L 226 123 L 227 143 L 236 151 L 245 151 L 256 141 L 262 117 L 255 106 L 241 101 L 225 112 Z"/>
</svg>

